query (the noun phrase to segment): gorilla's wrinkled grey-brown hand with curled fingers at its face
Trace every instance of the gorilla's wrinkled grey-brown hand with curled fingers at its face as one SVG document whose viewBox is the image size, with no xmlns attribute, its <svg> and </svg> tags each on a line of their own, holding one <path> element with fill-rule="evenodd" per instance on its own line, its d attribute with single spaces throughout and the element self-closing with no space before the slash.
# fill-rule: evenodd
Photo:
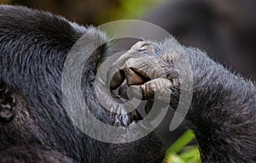
<svg viewBox="0 0 256 163">
<path fill-rule="evenodd" d="M 177 100 L 179 81 L 177 70 L 166 53 L 158 54 L 160 48 L 153 42 L 137 42 L 131 49 L 113 63 L 110 72 L 118 71 L 110 82 L 115 89 L 126 79 L 130 96 L 163 102 Z"/>
</svg>

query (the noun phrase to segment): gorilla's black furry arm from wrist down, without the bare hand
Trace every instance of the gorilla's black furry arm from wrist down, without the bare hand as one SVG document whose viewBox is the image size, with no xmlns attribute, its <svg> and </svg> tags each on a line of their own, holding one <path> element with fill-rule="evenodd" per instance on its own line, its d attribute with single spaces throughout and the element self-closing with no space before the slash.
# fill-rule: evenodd
<svg viewBox="0 0 256 163">
<path fill-rule="evenodd" d="M 256 88 L 253 82 L 226 70 L 199 49 L 183 47 L 174 38 L 152 44 L 160 51 L 151 55 L 163 62 L 183 62 L 184 58 L 177 53 L 183 53 L 189 60 L 194 84 L 192 103 L 185 118 L 195 131 L 201 160 L 255 162 Z M 143 59 L 152 63 L 152 58 Z M 178 99 L 172 99 L 175 101 Z"/>
</svg>

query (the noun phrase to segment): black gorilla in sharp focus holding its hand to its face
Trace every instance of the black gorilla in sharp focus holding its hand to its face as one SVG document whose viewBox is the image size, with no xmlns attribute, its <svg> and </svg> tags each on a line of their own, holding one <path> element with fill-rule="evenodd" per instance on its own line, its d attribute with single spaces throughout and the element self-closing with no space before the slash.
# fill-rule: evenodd
<svg viewBox="0 0 256 163">
<path fill-rule="evenodd" d="M 76 162 L 163 160 L 162 142 L 155 132 L 132 143 L 102 143 L 74 126 L 64 109 L 61 70 L 67 53 L 87 32 L 107 42 L 101 32 L 22 7 L 1 6 L 0 20 L 0 154 L 6 154 L 0 155 L 2 160 L 13 156 L 11 149 L 19 153 L 19 148 L 24 150 L 16 155 L 31 154 L 31 162 L 33 158 L 50 161 L 41 156 L 45 151 L 49 155 L 59 154 L 56 160 L 64 155 L 70 158 L 67 161 Z M 112 115 L 96 101 L 96 67 L 111 55 L 109 49 L 103 44 L 85 65 L 84 99 L 99 120 L 127 126 L 140 121 L 140 115 L 132 113 L 126 116 L 128 120 L 119 119 L 119 115 Z M 186 119 L 195 131 L 201 159 L 204 162 L 254 162 L 255 87 L 200 50 L 185 48 L 173 38 L 160 43 L 138 42 L 113 64 L 113 67 L 125 65 L 125 69 L 113 76 L 111 89 L 126 79 L 133 95 L 142 93 L 144 99 L 153 100 L 156 91 L 170 94 L 170 105 L 176 109 L 181 81 L 180 70 L 176 70 L 173 63 L 183 60 L 177 53 L 187 57 L 194 78 L 193 98 Z M 109 99 L 109 103 L 113 101 Z M 30 152 L 31 146 L 42 152 Z"/>
</svg>

